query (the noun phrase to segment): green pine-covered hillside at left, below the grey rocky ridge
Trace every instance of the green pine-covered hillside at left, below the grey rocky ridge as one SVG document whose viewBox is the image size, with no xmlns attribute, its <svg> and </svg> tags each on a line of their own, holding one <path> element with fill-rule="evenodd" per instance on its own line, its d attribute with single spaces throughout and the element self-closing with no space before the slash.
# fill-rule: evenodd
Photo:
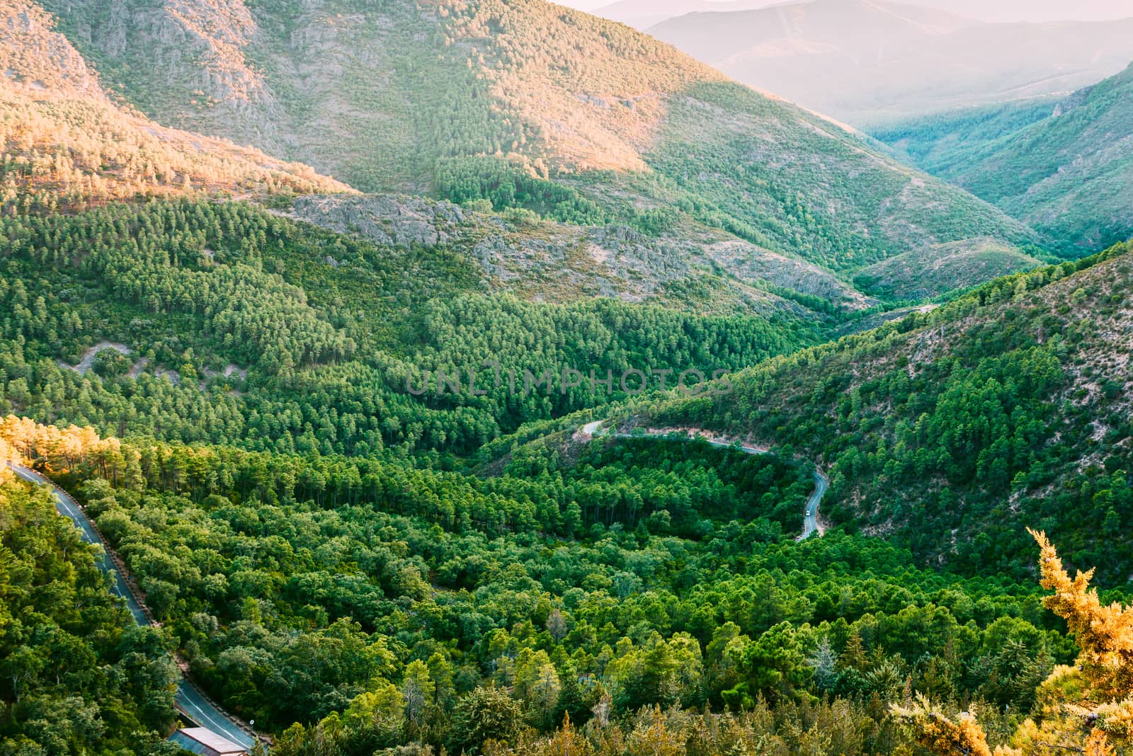
<svg viewBox="0 0 1133 756">
<path fill-rule="evenodd" d="M 7 217 L 0 239 L 0 409 L 116 435 L 470 453 L 624 397 L 627 370 L 710 376 L 821 333 L 787 309 L 697 316 L 492 295 L 445 246 L 374 246 L 240 203 Z M 566 369 L 615 378 L 564 387 Z"/>
</svg>

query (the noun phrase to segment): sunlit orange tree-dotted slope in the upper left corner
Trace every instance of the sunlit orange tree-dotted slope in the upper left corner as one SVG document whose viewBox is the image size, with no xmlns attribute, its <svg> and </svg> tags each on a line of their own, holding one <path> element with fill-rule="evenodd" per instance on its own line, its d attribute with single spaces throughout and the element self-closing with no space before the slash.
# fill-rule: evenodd
<svg viewBox="0 0 1133 756">
<path fill-rule="evenodd" d="M 305 165 L 164 128 L 117 106 L 97 75 L 23 0 L 0 1 L 0 167 L 6 207 L 205 191 L 344 191 Z"/>
</svg>

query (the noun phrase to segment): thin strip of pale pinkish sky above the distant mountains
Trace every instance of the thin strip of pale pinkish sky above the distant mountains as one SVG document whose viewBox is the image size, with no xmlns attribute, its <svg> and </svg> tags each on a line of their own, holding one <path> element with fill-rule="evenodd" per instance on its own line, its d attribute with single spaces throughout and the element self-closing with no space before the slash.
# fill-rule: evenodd
<svg viewBox="0 0 1133 756">
<path fill-rule="evenodd" d="M 587 11 L 594 11 L 613 2 L 613 0 L 556 1 Z M 651 3 L 649 0 L 636 0 L 634 5 L 648 7 Z M 781 3 L 768 0 L 766 5 Z M 1133 17 L 1133 0 L 919 0 L 910 5 L 930 6 L 990 22 L 1102 20 Z"/>
</svg>

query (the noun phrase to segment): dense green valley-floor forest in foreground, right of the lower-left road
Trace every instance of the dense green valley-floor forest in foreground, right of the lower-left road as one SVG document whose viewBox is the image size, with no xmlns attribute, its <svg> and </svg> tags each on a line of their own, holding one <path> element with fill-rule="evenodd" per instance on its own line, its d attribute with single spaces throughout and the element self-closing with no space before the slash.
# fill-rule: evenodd
<svg viewBox="0 0 1133 756">
<path fill-rule="evenodd" d="M 78 492 L 195 676 L 278 733 L 273 753 L 892 753 L 911 734 L 888 705 L 910 689 L 1026 705 L 1073 655 L 1033 587 L 872 539 L 795 543 L 778 521 L 809 486 L 774 457 L 599 444 L 478 480 L 0 433 Z M 0 491 L 5 512 L 27 496 Z"/>
</svg>

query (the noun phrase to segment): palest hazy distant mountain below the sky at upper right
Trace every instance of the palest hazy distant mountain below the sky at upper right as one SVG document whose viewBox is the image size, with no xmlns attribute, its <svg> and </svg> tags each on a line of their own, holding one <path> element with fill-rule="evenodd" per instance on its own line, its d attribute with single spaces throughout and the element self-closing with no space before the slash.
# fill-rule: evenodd
<svg viewBox="0 0 1133 756">
<path fill-rule="evenodd" d="M 741 81 L 855 126 L 1065 94 L 1133 59 L 1133 18 L 983 24 L 874 0 L 697 12 L 649 34 Z"/>
</svg>

